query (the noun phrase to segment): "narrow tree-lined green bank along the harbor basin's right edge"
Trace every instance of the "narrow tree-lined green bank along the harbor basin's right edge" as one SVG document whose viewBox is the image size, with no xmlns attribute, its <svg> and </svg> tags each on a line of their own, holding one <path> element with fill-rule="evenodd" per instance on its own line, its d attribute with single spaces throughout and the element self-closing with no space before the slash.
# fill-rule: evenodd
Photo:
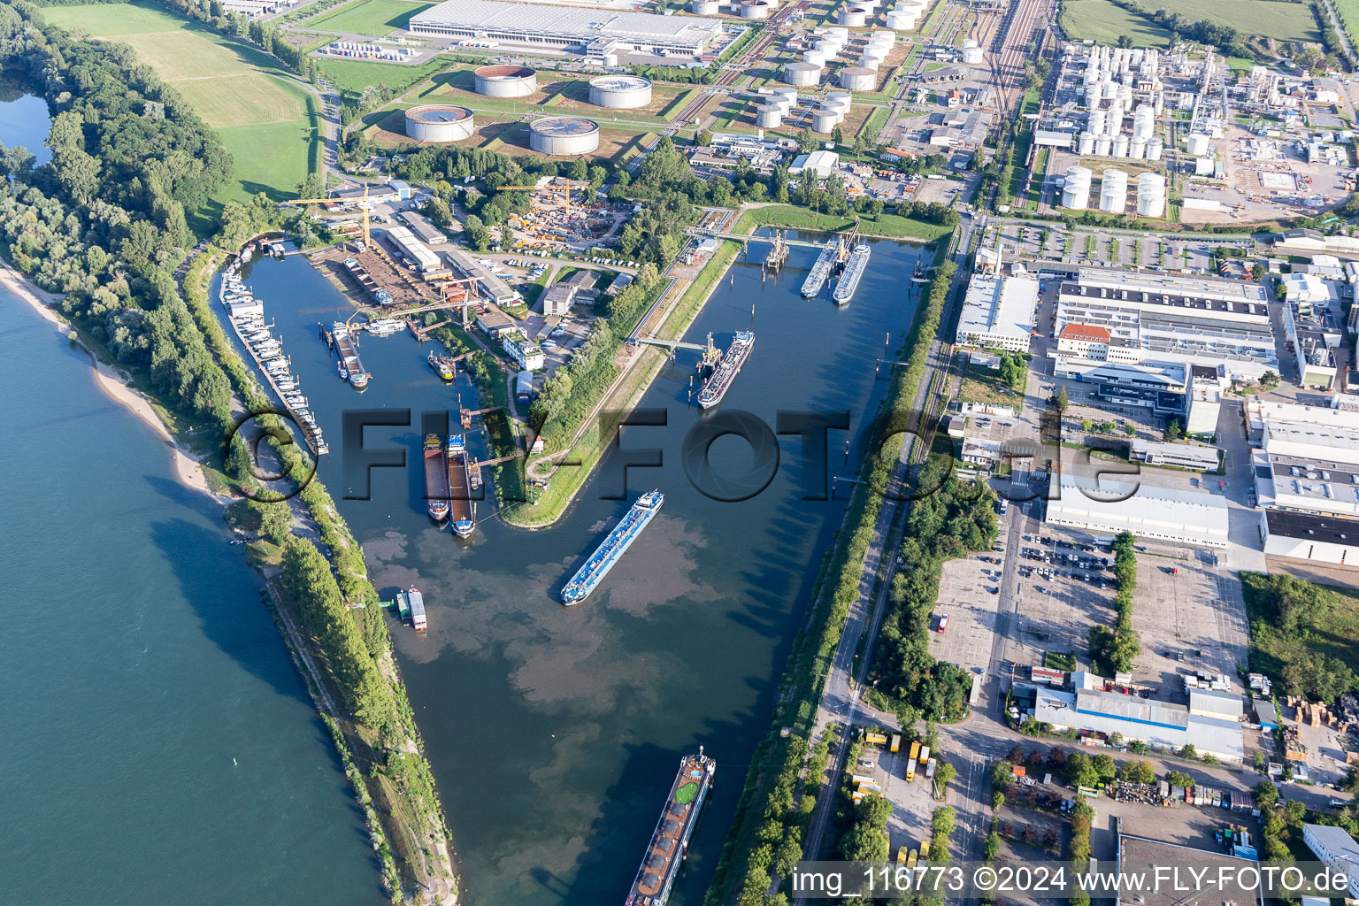
<svg viewBox="0 0 1359 906">
<path fill-rule="evenodd" d="M 930 342 L 939 330 L 951 276 L 951 266 L 935 272 L 924 304 L 916 312 L 902 346 L 902 350 L 909 350 L 906 367 L 894 369 L 892 388 L 882 401 L 881 412 L 887 416 L 883 425 L 909 417 L 916 390 L 924 379 Z M 822 560 L 807 626 L 794 640 L 779 686 L 779 704 L 769 721 L 769 732 L 752 758 L 737 818 L 718 860 L 705 906 L 731 902 L 742 890 L 750 894 L 768 888 L 772 849 L 780 841 L 796 845 L 802 856 L 802 833 L 809 810 L 783 795 L 781 778 L 787 777 L 790 765 L 800 769 L 800 753 L 807 750 L 815 727 L 818 702 L 845 618 L 859 596 L 864 554 L 882 507 L 882 496 L 874 489 L 886 488 L 900 452 L 901 436 L 886 435 L 883 429 L 870 443 L 870 454 L 862 467 L 866 484 L 855 486 L 836 541 Z M 784 736 L 783 728 L 791 732 Z M 807 782 L 819 782 L 819 778 L 809 776 Z M 806 796 L 807 791 L 803 799 Z"/>
</svg>

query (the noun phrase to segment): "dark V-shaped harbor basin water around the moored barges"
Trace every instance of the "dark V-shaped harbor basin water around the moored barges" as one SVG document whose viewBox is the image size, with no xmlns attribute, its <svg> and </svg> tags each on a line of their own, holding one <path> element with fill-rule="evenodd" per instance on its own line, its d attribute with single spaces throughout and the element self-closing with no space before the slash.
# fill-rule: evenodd
<svg viewBox="0 0 1359 906">
<path fill-rule="evenodd" d="M 845 440 L 860 437 L 886 380 L 875 359 L 896 348 L 917 296 L 917 246 L 879 242 L 852 303 L 805 300 L 815 258 L 794 249 L 777 281 L 761 285 L 758 264 L 737 264 L 686 340 L 708 331 L 723 348 L 737 330 L 756 333 L 754 352 L 719 412 L 747 410 L 771 427 L 779 410 L 848 410 L 851 431 L 830 433 L 832 474 L 845 474 Z M 764 255 L 752 246 L 752 259 Z M 410 698 L 438 776 L 466 902 L 476 906 L 621 902 L 655 826 L 681 754 L 700 744 L 719 762 L 673 903 L 693 906 L 711 880 L 752 751 L 765 733 L 777 679 L 800 629 L 821 554 L 844 501 L 815 496 L 798 436 L 777 440 L 773 481 L 742 503 L 700 493 L 681 465 L 684 437 L 701 420 L 688 402 L 696 353 L 681 352 L 641 402 L 667 410 L 663 428 L 625 428 L 622 448 L 660 448 L 659 469 L 628 470 L 607 458 L 579 501 L 546 531 L 495 519 L 470 545 L 436 530 L 424 513 L 421 413 L 447 418 L 466 383 L 446 387 L 408 333 L 364 337 L 366 393 L 337 378 L 317 338 L 351 308 L 300 257 L 246 272 L 276 322 L 332 455 L 321 478 L 363 542 L 383 596 L 424 592 L 429 630 L 393 634 Z M 752 307 L 754 311 L 752 312 Z M 371 427 L 367 448 L 404 448 L 405 470 L 371 470 L 371 493 L 342 481 L 341 412 L 412 410 L 410 427 Z M 711 417 L 711 416 L 709 416 Z M 474 448 L 482 440 L 474 437 Z M 855 454 L 858 455 L 858 454 Z M 709 460 L 719 475 L 750 467 L 750 447 L 722 437 Z M 565 580 L 624 513 L 659 488 L 665 509 L 583 604 L 565 609 Z M 493 501 L 478 505 L 488 516 Z"/>
</svg>

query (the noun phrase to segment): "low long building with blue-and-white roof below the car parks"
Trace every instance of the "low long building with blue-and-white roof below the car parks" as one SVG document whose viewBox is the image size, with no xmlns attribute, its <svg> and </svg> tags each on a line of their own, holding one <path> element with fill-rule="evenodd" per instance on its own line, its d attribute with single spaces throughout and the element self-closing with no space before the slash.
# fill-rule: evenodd
<svg viewBox="0 0 1359 906">
<path fill-rule="evenodd" d="M 1057 732 L 1075 729 L 1106 738 L 1118 733 L 1162 751 L 1193 746 L 1199 754 L 1211 754 L 1229 765 L 1239 765 L 1245 758 L 1239 698 L 1237 717 L 1210 717 L 1185 705 L 1098 689 L 1061 691 L 1036 686 L 1034 690 L 1033 719 Z"/>
</svg>

